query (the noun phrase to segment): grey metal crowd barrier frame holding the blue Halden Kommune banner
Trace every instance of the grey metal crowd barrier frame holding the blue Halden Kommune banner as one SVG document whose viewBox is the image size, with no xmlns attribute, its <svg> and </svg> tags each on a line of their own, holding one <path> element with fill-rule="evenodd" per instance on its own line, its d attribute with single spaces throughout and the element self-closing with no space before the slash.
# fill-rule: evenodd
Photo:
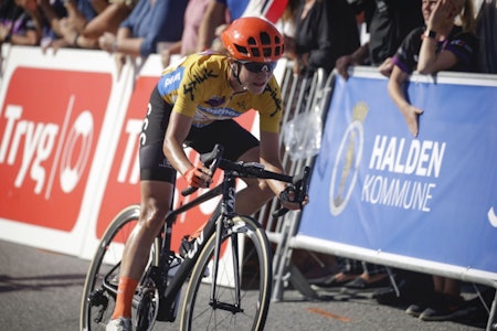
<svg viewBox="0 0 497 331">
<path fill-rule="evenodd" d="M 358 73 L 362 70 L 364 75 L 369 74 L 369 68 L 358 68 Z M 442 73 L 437 78 L 434 78 L 434 84 L 440 83 L 438 78 L 451 78 L 454 75 L 452 73 Z M 475 77 L 479 79 L 489 79 L 495 82 L 494 75 L 484 75 L 484 74 L 475 74 Z M 458 76 L 457 76 L 458 77 Z M 466 77 L 466 76 L 465 76 Z M 336 79 L 337 78 L 337 79 Z M 416 75 L 413 77 L 413 82 L 416 83 L 417 79 L 425 78 L 424 76 Z M 326 116 L 331 103 L 331 96 L 335 89 L 335 81 L 338 81 L 338 77 L 335 73 L 331 73 L 329 76 L 326 76 L 322 71 L 316 72 L 313 77 L 299 77 L 292 73 L 292 64 L 288 63 L 286 67 L 285 75 L 282 79 L 282 96 L 285 105 L 285 115 L 282 122 L 282 134 L 285 130 L 285 124 L 287 124 L 292 118 L 294 118 L 298 114 L 318 111 L 322 124 L 325 124 Z M 470 86 L 470 79 L 465 82 Z M 495 85 L 495 83 L 489 84 Z M 309 127 L 309 130 L 313 128 Z M 302 132 L 303 136 L 306 135 L 305 131 Z M 283 135 L 282 135 L 283 136 Z M 296 173 L 302 170 L 305 166 L 310 166 L 313 168 L 316 157 L 309 157 L 307 159 L 294 159 L 292 154 L 285 151 L 285 146 L 282 141 L 282 158 L 283 164 L 288 173 Z M 310 197 L 313 199 L 313 197 Z M 300 270 L 292 263 L 292 254 L 294 249 L 305 249 L 309 253 L 325 253 L 325 254 L 336 254 L 339 256 L 361 259 L 373 264 L 381 264 L 389 269 L 390 267 L 400 267 L 405 269 L 416 269 L 420 271 L 425 271 L 427 274 L 432 274 L 432 271 L 436 271 L 436 269 L 431 268 L 414 268 L 409 264 L 401 264 L 389 260 L 388 258 L 377 258 L 376 256 L 371 257 L 364 254 L 356 254 L 356 252 L 349 252 L 346 248 L 330 249 L 329 247 L 320 247 L 321 242 L 319 243 L 309 243 L 304 242 L 302 238 L 298 238 L 302 213 L 293 212 L 286 214 L 284 217 L 274 220 L 271 217 L 271 213 L 278 209 L 277 199 L 274 199 L 271 203 L 265 205 L 258 214 L 258 221 L 261 224 L 264 224 L 266 227 L 266 233 L 269 237 L 269 241 L 275 244 L 275 253 L 274 253 L 274 287 L 272 293 L 273 301 L 279 301 L 283 299 L 283 293 L 288 284 L 293 286 L 293 288 L 297 289 L 304 297 L 316 299 L 318 298 L 317 292 L 310 288 L 307 279 L 303 276 Z M 335 247 L 335 246 L 334 246 Z M 434 268 L 434 267 L 433 267 Z M 391 274 L 391 273 L 389 273 Z M 395 288 L 395 281 L 390 275 L 392 280 L 392 286 Z M 451 275 L 454 276 L 454 275 Z M 482 278 L 467 278 L 467 276 L 459 275 L 456 278 L 461 278 L 462 280 L 466 280 L 469 282 L 482 284 L 490 287 L 495 287 L 495 279 L 482 279 Z M 478 296 L 480 297 L 479 290 Z M 482 297 L 480 297 L 482 298 Z M 485 305 L 485 303 L 484 303 Z M 487 330 L 495 330 L 497 323 L 497 293 L 493 301 L 491 308 L 488 309 L 489 318 L 487 323 Z"/>
</svg>

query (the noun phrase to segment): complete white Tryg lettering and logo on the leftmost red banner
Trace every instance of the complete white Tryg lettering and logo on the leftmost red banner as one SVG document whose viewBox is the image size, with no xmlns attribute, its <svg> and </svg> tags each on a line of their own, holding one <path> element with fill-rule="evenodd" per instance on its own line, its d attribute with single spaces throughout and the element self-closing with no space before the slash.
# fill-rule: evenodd
<svg viewBox="0 0 497 331">
<path fill-rule="evenodd" d="M 30 178 L 35 182 L 34 193 L 41 194 L 45 190 L 44 196 L 49 199 L 56 175 L 64 193 L 72 192 L 77 185 L 88 161 L 94 121 L 92 114 L 85 110 L 74 122 L 70 122 L 73 105 L 74 96 L 70 98 L 62 128 L 52 122 L 22 119 L 22 106 L 7 105 L 0 163 L 13 166 L 18 158 L 21 158 L 14 180 L 15 188 L 21 188 L 27 178 Z M 46 160 L 51 157 L 53 163 L 47 169 Z"/>
</svg>

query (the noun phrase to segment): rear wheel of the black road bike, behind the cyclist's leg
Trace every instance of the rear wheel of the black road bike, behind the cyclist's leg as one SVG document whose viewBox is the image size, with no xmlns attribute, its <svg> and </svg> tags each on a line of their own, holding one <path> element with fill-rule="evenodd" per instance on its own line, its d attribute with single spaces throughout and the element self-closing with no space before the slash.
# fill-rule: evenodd
<svg viewBox="0 0 497 331">
<path fill-rule="evenodd" d="M 120 263 L 124 245 L 138 222 L 139 214 L 139 205 L 127 206 L 110 222 L 102 236 L 86 274 L 81 302 L 80 330 L 105 330 L 106 324 L 110 320 L 115 307 L 115 295 L 103 287 L 104 276 Z M 157 265 L 159 260 L 159 245 L 160 243 L 156 239 L 149 263 Z M 106 277 L 107 282 L 112 284 L 116 289 L 119 270 L 117 266 Z"/>
</svg>

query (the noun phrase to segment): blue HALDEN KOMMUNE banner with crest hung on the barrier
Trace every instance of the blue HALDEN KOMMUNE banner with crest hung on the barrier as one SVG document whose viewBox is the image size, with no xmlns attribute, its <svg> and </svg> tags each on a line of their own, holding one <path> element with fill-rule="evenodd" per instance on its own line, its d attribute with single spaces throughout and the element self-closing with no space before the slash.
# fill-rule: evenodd
<svg viewBox="0 0 497 331">
<path fill-rule="evenodd" d="M 337 77 L 299 234 L 497 273 L 497 86 Z"/>
</svg>

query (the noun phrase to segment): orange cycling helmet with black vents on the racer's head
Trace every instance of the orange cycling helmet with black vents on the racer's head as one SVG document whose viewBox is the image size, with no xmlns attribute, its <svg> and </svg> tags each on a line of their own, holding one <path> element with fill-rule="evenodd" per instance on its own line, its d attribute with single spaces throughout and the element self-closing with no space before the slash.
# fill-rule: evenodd
<svg viewBox="0 0 497 331">
<path fill-rule="evenodd" d="M 237 61 L 275 62 L 285 51 L 278 30 L 260 18 L 234 20 L 221 34 L 221 40 L 228 53 Z"/>
</svg>

